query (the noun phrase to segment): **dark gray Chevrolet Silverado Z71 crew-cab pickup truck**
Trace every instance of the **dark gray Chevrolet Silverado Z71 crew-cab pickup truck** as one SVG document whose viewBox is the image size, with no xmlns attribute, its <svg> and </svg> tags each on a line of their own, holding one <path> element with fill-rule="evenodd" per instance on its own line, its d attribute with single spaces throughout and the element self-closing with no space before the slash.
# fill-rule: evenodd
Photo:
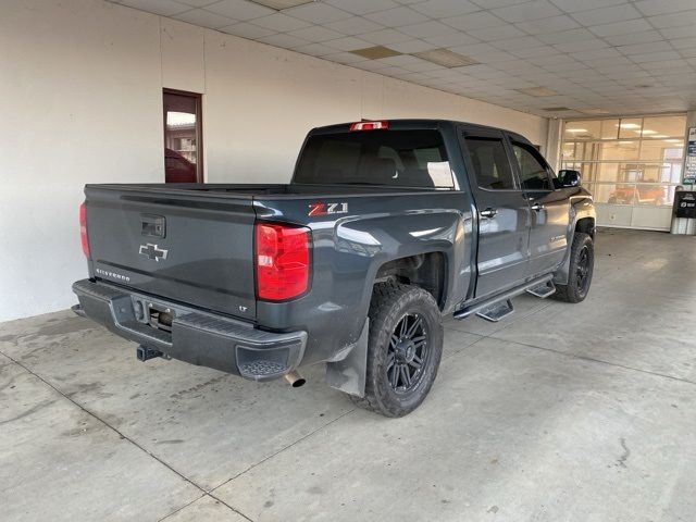
<svg viewBox="0 0 696 522">
<path fill-rule="evenodd" d="M 524 291 L 582 301 L 595 210 L 524 137 L 431 120 L 309 133 L 289 185 L 87 185 L 76 313 L 174 358 L 328 384 L 388 417 L 415 409 L 443 316 L 497 321 Z"/>
</svg>

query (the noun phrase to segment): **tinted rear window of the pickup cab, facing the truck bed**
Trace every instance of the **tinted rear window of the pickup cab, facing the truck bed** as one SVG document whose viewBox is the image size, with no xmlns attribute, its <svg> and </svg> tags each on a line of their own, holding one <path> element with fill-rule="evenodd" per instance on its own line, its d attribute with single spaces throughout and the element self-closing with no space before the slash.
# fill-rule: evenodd
<svg viewBox="0 0 696 522">
<path fill-rule="evenodd" d="M 455 188 L 437 130 L 363 130 L 311 136 L 295 183 Z"/>
</svg>

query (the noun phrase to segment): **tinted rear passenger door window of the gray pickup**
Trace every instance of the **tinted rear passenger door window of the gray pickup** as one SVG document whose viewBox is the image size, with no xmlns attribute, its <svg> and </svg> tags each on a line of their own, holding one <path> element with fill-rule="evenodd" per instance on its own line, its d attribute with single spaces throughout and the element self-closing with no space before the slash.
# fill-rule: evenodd
<svg viewBox="0 0 696 522">
<path fill-rule="evenodd" d="M 508 154 L 501 139 L 467 137 L 465 141 L 478 187 L 487 190 L 515 188 Z"/>
</svg>

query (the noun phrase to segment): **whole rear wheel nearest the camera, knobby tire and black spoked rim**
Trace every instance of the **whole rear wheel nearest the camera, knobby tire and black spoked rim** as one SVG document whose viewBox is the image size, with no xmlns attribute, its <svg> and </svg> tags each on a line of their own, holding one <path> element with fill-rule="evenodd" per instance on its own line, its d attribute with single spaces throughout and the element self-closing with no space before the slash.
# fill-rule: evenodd
<svg viewBox="0 0 696 522">
<path fill-rule="evenodd" d="M 433 386 L 442 353 L 443 320 L 433 296 L 415 286 L 375 285 L 365 395 L 352 400 L 385 417 L 410 413 Z"/>
</svg>

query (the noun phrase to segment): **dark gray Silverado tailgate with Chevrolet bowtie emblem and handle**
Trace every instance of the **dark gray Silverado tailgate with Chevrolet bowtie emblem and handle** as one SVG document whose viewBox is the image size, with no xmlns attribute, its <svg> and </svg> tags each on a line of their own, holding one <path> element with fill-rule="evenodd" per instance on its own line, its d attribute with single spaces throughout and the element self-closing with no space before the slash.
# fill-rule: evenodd
<svg viewBox="0 0 696 522">
<path fill-rule="evenodd" d="M 256 319 L 252 199 L 169 188 L 85 188 L 91 274 Z"/>
</svg>

